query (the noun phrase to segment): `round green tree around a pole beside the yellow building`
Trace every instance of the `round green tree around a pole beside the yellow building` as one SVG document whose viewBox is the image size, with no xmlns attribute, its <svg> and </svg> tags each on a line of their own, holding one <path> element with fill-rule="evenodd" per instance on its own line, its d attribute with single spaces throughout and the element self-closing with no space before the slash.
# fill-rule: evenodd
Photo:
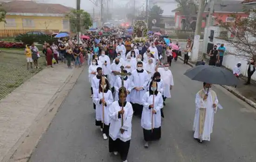
<svg viewBox="0 0 256 162">
<path fill-rule="evenodd" d="M 80 21 L 77 20 L 77 15 L 80 15 Z M 74 31 L 74 32 L 79 32 L 79 30 L 78 30 L 79 27 L 82 30 L 87 30 L 87 29 L 89 29 L 90 26 L 93 25 L 91 15 L 88 12 L 84 11 L 84 10 L 72 10 L 67 15 L 67 18 L 70 21 L 71 30 Z M 80 22 L 80 24 L 78 24 L 78 22 Z"/>
</svg>

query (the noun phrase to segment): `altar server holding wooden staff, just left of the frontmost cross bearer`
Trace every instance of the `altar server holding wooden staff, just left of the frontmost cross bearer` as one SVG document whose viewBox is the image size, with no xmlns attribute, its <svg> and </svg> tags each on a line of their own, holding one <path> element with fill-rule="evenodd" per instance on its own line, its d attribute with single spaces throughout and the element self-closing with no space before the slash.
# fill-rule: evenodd
<svg viewBox="0 0 256 162">
<path fill-rule="evenodd" d="M 96 105 L 95 125 L 101 127 L 103 139 L 107 140 L 109 135 L 110 124 L 109 107 L 111 106 L 114 100 L 113 95 L 109 90 L 108 80 L 107 78 L 105 78 L 105 76 L 103 76 L 100 80 L 100 85 L 98 87 L 98 90 L 94 93 L 93 101 Z"/>
</svg>

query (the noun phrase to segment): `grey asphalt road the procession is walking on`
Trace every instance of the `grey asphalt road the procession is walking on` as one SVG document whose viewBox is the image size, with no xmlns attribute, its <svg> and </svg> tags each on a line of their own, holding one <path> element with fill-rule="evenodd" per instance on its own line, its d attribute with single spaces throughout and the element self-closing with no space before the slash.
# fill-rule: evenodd
<svg viewBox="0 0 256 162">
<path fill-rule="evenodd" d="M 182 75 L 188 65 L 172 66 L 175 86 L 162 120 L 162 138 L 145 150 L 140 119 L 133 118 L 129 162 L 256 162 L 256 111 L 222 87 L 214 87 L 224 107 L 215 116 L 210 142 L 193 139 L 195 93 L 202 83 Z M 80 76 L 43 135 L 30 162 L 120 162 L 94 126 L 87 72 Z"/>
</svg>

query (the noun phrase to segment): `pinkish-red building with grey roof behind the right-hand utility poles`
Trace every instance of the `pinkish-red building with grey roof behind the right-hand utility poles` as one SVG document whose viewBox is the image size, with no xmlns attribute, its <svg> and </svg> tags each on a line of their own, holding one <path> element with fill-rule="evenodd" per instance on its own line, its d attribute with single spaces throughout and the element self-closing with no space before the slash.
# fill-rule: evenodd
<svg viewBox="0 0 256 162">
<path fill-rule="evenodd" d="M 256 0 L 244 0 L 242 3 L 240 0 L 226 0 L 226 1 L 215 1 L 214 13 L 213 13 L 213 22 L 212 25 L 217 25 L 219 19 L 223 22 L 233 22 L 235 21 L 231 15 L 237 15 L 241 18 L 247 18 L 249 13 L 246 13 L 246 10 L 249 10 L 251 7 L 256 6 Z M 179 8 L 176 8 L 172 12 L 175 12 L 175 27 L 178 29 L 184 29 L 186 16 L 182 15 Z M 205 27 L 206 19 L 209 13 L 209 4 L 206 4 L 202 28 Z M 190 17 L 190 25 L 195 26 L 197 15 Z M 194 24 L 194 25 L 192 25 Z"/>
</svg>

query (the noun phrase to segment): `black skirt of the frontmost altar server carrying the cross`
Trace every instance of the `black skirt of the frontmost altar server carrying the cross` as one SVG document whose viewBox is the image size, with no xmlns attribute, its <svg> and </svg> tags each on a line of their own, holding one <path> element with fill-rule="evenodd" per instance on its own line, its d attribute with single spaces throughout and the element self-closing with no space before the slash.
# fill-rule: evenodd
<svg viewBox="0 0 256 162">
<path fill-rule="evenodd" d="M 121 160 L 125 161 L 128 156 L 131 140 L 123 142 L 119 138 L 117 138 L 115 141 L 111 137 L 108 139 L 109 152 L 118 152 L 121 156 Z"/>
</svg>

